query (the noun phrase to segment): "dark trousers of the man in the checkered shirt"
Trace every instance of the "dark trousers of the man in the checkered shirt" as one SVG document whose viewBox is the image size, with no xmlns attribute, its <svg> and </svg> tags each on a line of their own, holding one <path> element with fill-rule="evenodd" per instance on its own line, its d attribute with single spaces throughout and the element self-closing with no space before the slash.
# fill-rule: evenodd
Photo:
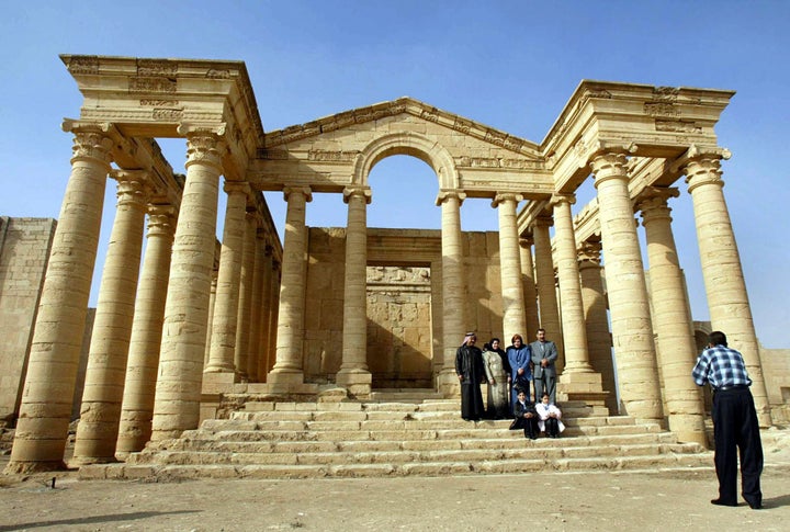
<svg viewBox="0 0 790 532">
<path fill-rule="evenodd" d="M 759 477 L 763 444 L 752 393 L 747 387 L 713 394 L 713 441 L 715 443 L 719 498 L 737 502 L 737 460 L 741 455 L 741 495 L 752 506 L 763 503 Z"/>
</svg>

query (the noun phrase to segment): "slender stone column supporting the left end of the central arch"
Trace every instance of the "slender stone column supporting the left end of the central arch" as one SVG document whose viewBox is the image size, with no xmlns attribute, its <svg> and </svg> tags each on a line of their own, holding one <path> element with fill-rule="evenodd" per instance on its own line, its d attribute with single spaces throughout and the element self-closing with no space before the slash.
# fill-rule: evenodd
<svg viewBox="0 0 790 532">
<path fill-rule="evenodd" d="M 368 217 L 371 201 L 368 188 L 347 188 L 346 281 L 343 288 L 342 363 L 337 384 L 351 395 L 370 394 L 368 370 Z"/>
</svg>

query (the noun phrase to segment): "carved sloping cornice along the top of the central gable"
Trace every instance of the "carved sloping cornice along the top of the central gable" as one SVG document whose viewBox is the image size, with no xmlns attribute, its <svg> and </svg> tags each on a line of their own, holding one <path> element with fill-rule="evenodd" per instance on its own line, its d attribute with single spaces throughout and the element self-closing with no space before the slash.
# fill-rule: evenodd
<svg viewBox="0 0 790 532">
<path fill-rule="evenodd" d="M 267 149 L 274 148 L 295 140 L 302 140 L 400 114 L 415 116 L 420 121 L 444 126 L 458 132 L 460 135 L 467 135 L 530 158 L 540 157 L 540 147 L 530 140 L 495 129 L 494 127 L 458 114 L 442 111 L 409 97 L 398 98 L 397 100 L 388 102 L 374 103 L 351 111 L 343 111 L 305 124 L 292 125 L 267 133 L 264 136 L 264 146 Z"/>
</svg>

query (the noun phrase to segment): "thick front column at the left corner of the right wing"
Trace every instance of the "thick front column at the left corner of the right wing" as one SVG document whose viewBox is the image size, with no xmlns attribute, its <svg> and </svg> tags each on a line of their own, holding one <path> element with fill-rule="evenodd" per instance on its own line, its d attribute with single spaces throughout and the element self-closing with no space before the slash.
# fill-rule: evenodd
<svg viewBox="0 0 790 532">
<path fill-rule="evenodd" d="M 601 242 L 606 261 L 618 382 L 624 412 L 636 419 L 664 418 L 653 324 L 642 252 L 629 194 L 628 158 L 621 152 L 594 157 Z"/>
</svg>

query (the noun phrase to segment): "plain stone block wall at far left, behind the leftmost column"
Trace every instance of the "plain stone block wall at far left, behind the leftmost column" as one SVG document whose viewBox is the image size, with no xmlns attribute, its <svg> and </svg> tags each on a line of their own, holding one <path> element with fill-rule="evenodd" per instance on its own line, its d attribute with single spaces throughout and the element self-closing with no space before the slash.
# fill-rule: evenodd
<svg viewBox="0 0 790 532">
<path fill-rule="evenodd" d="M 19 412 L 56 225 L 52 218 L 0 217 L 0 422 Z"/>
</svg>

